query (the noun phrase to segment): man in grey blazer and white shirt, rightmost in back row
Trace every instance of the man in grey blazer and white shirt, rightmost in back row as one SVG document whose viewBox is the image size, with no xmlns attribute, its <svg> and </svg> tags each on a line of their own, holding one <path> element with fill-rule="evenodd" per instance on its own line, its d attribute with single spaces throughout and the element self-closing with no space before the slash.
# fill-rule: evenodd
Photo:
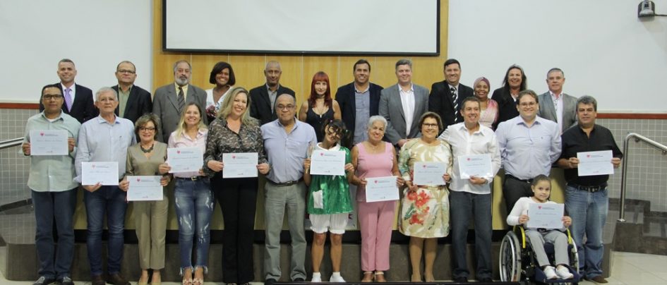
<svg viewBox="0 0 667 285">
<path fill-rule="evenodd" d="M 549 91 L 539 95 L 538 116 L 558 123 L 560 133 L 577 122 L 577 98 L 563 93 L 565 73 L 560 68 L 551 68 L 546 73 Z"/>
</svg>

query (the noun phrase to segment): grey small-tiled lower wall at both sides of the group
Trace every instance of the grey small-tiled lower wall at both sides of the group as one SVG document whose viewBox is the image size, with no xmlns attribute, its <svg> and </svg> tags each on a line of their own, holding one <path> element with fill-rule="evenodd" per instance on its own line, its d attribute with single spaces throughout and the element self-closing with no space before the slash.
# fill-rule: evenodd
<svg viewBox="0 0 667 285">
<path fill-rule="evenodd" d="M 0 109 L 0 140 L 23 136 L 25 121 L 36 110 Z M 667 145 L 667 120 L 599 119 L 609 128 L 618 147 L 623 149 L 625 135 L 639 133 Z M 651 210 L 667 212 L 667 155 L 644 142 L 630 141 L 627 193 L 629 199 L 651 201 Z M 30 198 L 25 186 L 28 180 L 28 159 L 13 147 L 0 151 L 0 205 Z M 611 178 L 611 197 L 620 196 L 620 171 Z"/>
</svg>

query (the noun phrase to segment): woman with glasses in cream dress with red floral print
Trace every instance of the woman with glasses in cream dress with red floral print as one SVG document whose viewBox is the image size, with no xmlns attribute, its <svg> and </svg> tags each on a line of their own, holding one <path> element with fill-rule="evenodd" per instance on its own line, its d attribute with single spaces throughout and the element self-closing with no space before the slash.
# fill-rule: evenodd
<svg viewBox="0 0 667 285">
<path fill-rule="evenodd" d="M 449 191 L 445 184 L 450 181 L 452 151 L 450 145 L 438 140 L 438 133 L 443 131 L 440 116 L 426 112 L 419 119 L 421 138 L 406 142 L 399 153 L 398 168 L 407 185 L 404 190 L 400 231 L 410 236 L 410 264 L 412 281 L 422 281 L 421 255 L 424 255 L 424 277 L 426 281 L 435 281 L 433 262 L 438 246 L 438 238 L 449 234 Z M 445 164 L 443 180 L 432 185 L 416 185 L 414 181 L 415 162 L 441 162 Z"/>
</svg>

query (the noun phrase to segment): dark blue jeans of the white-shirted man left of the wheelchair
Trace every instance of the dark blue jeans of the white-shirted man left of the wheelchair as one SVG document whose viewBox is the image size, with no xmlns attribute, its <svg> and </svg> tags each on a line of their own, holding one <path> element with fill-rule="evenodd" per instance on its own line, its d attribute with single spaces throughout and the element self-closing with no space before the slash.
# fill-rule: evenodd
<svg viewBox="0 0 667 285">
<path fill-rule="evenodd" d="M 477 279 L 492 278 L 491 271 L 491 194 L 450 191 L 450 224 L 454 278 L 468 277 L 466 248 L 470 219 L 475 222 L 475 259 Z"/>
</svg>

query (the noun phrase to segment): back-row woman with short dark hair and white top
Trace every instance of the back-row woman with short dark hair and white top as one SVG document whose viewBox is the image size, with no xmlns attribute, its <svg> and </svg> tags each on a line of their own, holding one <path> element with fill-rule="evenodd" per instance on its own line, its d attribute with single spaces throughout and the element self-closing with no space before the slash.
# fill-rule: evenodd
<svg viewBox="0 0 667 285">
<path fill-rule="evenodd" d="M 227 95 L 236 84 L 236 76 L 234 76 L 232 65 L 224 61 L 215 63 L 208 82 L 215 85 L 212 89 L 206 90 L 206 116 L 208 116 L 208 122 L 210 123 L 217 116 L 217 112 L 220 111 L 224 95 Z"/>
</svg>

